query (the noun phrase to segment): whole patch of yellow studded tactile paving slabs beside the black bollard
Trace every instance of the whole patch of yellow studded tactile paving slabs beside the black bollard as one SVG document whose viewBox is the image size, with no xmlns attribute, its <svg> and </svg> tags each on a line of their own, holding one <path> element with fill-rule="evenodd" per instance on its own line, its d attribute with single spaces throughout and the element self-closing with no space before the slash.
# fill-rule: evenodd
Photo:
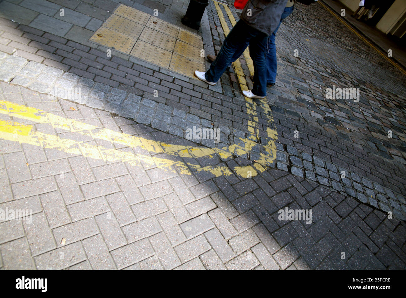
<svg viewBox="0 0 406 298">
<path fill-rule="evenodd" d="M 197 69 L 205 71 L 203 40 L 199 35 L 124 4 L 117 7 L 90 41 L 187 77 L 195 78 Z M 171 61 L 175 45 L 178 55 Z"/>
</svg>

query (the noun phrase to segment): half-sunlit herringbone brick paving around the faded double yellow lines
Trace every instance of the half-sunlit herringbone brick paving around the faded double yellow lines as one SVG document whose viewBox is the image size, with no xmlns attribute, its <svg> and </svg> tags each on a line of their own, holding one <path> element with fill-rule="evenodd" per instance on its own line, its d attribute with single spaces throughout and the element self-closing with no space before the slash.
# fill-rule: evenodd
<svg viewBox="0 0 406 298">
<path fill-rule="evenodd" d="M 43 102 L 39 93 L 26 88 L 6 83 L 1 88 L 2 100 L 27 106 Z M 48 102 L 52 113 L 66 117 L 74 111 L 76 119 L 100 128 L 150 139 L 159 133 L 104 111 L 55 98 Z M 64 134 L 40 124 L 35 129 Z M 77 136 L 72 133 L 69 138 Z M 90 142 L 94 141 L 98 140 Z M 1 140 L 1 150 L 2 172 L 8 177 L 1 208 L 33 210 L 32 224 L 0 223 L 4 269 L 405 266 L 403 221 L 281 170 L 270 169 L 251 179 L 220 176 L 199 183 L 194 176 L 155 174 L 158 168 L 146 170 L 7 140 Z M 285 206 L 311 208 L 313 223 L 280 221 L 278 210 Z M 341 259 L 341 252 L 346 259 Z"/>
</svg>

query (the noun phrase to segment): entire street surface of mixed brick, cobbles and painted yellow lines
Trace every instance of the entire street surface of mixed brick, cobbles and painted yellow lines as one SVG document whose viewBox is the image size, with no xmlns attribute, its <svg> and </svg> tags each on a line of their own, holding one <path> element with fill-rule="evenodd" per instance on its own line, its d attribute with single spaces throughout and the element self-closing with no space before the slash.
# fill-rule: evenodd
<svg viewBox="0 0 406 298">
<path fill-rule="evenodd" d="M 188 2 L 0 2 L 0 270 L 404 270 L 402 66 L 296 3 L 276 85 L 248 99 L 248 51 L 193 78 L 240 11 L 210 0 L 192 30 Z"/>
</svg>

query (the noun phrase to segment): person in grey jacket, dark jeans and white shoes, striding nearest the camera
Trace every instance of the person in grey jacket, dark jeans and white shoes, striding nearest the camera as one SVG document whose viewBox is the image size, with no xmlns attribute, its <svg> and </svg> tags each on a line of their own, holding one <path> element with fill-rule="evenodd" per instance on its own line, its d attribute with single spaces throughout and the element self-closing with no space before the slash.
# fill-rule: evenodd
<svg viewBox="0 0 406 298">
<path fill-rule="evenodd" d="M 265 98 L 267 83 L 266 52 L 269 36 L 279 27 L 281 15 L 288 0 L 249 0 L 240 20 L 227 35 L 209 70 L 195 71 L 194 75 L 209 85 L 215 85 L 229 67 L 234 55 L 238 56 L 250 45 L 250 56 L 254 64 L 253 90 L 243 91 L 248 98 Z"/>
</svg>

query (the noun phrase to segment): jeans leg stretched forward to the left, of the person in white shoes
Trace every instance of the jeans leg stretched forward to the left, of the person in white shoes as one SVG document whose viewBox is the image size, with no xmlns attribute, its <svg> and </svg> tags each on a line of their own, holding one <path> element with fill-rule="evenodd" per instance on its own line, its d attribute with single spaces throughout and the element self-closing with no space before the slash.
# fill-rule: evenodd
<svg viewBox="0 0 406 298">
<path fill-rule="evenodd" d="M 224 40 L 216 60 L 214 60 L 209 70 L 206 71 L 206 80 L 217 82 L 224 71 L 230 66 L 233 55 L 235 53 L 242 53 L 248 46 L 249 41 L 258 34 L 260 34 L 258 30 L 239 20 Z"/>
</svg>

